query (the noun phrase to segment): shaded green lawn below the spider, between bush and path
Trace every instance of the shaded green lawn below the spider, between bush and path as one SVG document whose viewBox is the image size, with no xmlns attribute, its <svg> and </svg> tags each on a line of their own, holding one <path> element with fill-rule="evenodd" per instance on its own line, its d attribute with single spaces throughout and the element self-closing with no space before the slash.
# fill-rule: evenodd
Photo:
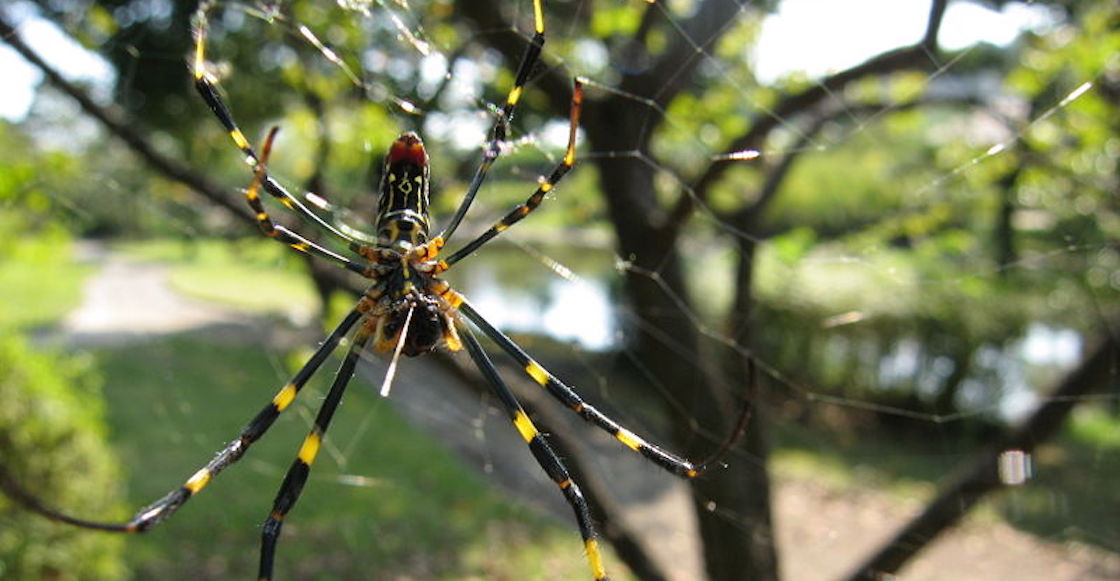
<svg viewBox="0 0 1120 581">
<path fill-rule="evenodd" d="M 113 440 L 130 470 L 133 505 L 178 486 L 269 401 L 288 372 L 252 346 L 202 337 L 97 353 Z M 328 375 L 328 374 L 324 374 Z M 250 579 L 259 525 L 306 434 L 321 382 L 300 395 L 268 437 L 174 518 L 130 538 L 142 579 Z M 366 427 L 354 442 L 352 438 Z M 488 488 L 385 400 L 356 386 L 286 523 L 286 579 L 581 579 L 573 531 Z M 344 443 L 338 443 L 344 442 Z M 361 480 L 360 485 L 343 484 Z M 358 478 L 353 478 L 358 477 Z M 620 572 L 615 564 L 614 571 Z M 617 575 L 616 575 L 617 577 Z"/>
</svg>

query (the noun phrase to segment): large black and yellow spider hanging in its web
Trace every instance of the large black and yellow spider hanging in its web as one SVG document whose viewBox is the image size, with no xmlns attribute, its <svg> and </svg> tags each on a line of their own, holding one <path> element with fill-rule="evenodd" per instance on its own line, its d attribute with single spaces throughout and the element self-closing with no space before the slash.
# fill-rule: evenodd
<svg viewBox="0 0 1120 581">
<path fill-rule="evenodd" d="M 207 8 L 207 2 L 199 7 L 194 27 L 194 84 L 202 99 L 228 132 L 233 143 L 252 167 L 252 181 L 244 190 L 244 195 L 249 206 L 255 213 L 260 229 L 268 237 L 287 244 L 299 252 L 316 255 L 361 274 L 368 279 L 368 285 L 354 308 L 327 336 L 310 359 L 276 393 L 272 400 L 258 412 L 234 440 L 230 441 L 213 459 L 187 478 L 181 486 L 140 509 L 128 522 L 87 521 L 49 508 L 12 484 L 2 469 L 0 469 L 0 488 L 31 510 L 55 521 L 84 528 L 116 533 L 147 531 L 175 514 L 222 470 L 240 460 L 249 448 L 264 435 L 277 418 L 291 405 L 304 385 L 319 371 L 330 354 L 349 336 L 346 355 L 330 384 L 327 396 L 319 406 L 310 432 L 300 444 L 296 459 L 280 485 L 272 509 L 262 527 L 258 578 L 269 580 L 272 579 L 273 560 L 284 517 L 298 500 L 304 485 L 307 482 L 323 438 L 342 401 L 343 392 L 354 375 L 362 352 L 371 348 L 380 353 L 392 353 L 390 371 L 386 372 L 383 385 L 384 392 L 388 391 L 394 364 L 402 354 L 417 356 L 439 347 L 452 352 L 466 347 L 470 359 L 494 391 L 510 422 L 529 447 L 533 458 L 556 482 L 575 512 L 594 578 L 596 580 L 607 579 L 598 546 L 598 535 L 579 486 L 572 480 L 561 459 L 549 446 L 548 440 L 530 420 L 483 349 L 475 331 L 472 330 L 470 326 L 464 324 L 464 319 L 513 358 L 525 375 L 544 388 L 554 400 L 579 414 L 588 423 L 613 435 L 626 448 L 684 478 L 696 478 L 708 469 L 721 465 L 722 458 L 730 452 L 731 447 L 745 430 L 748 409 L 744 407 L 735 430 L 711 458 L 699 463 L 691 462 L 645 441 L 635 432 L 586 403 L 576 391 L 545 371 L 512 339 L 479 315 L 463 294 L 456 292 L 439 278 L 440 273 L 536 209 L 544 196 L 560 182 L 576 162 L 576 134 L 584 100 L 584 83 L 579 77 L 573 79 L 568 146 L 563 159 L 548 178 L 540 180 L 536 190 L 524 203 L 515 206 L 494 223 L 489 229 L 464 244 L 447 257 L 440 257 L 440 251 L 458 228 L 483 186 L 491 167 L 501 154 L 501 146 L 508 133 L 514 109 L 530 73 L 541 58 L 541 49 L 544 45 L 544 19 L 541 0 L 533 0 L 534 32 L 517 65 L 513 87 L 506 95 L 505 103 L 497 111 L 497 119 L 489 130 L 482 162 L 449 224 L 435 236 L 431 235 L 431 219 L 428 212 L 428 153 L 424 150 L 423 141 L 414 132 L 401 133 L 389 147 L 374 218 L 375 234 L 362 233 L 330 219 L 336 216 L 337 210 L 329 203 L 314 194 L 307 194 L 301 200 L 269 175 L 268 160 L 278 128 L 272 128 L 269 131 L 258 154 L 234 121 L 230 107 L 220 96 L 217 82 L 207 76 L 205 59 L 205 12 Z M 302 221 L 345 244 L 353 255 L 344 256 L 273 222 L 261 202 L 261 190 L 277 198 Z M 311 207 L 316 209 L 312 210 Z"/>
</svg>

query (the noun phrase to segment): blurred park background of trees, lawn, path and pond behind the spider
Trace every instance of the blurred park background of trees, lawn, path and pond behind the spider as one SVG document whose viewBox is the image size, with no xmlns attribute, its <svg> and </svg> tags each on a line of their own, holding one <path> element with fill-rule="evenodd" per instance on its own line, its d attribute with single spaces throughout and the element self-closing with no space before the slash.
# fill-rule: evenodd
<svg viewBox="0 0 1120 581">
<path fill-rule="evenodd" d="M 363 289 L 256 229 L 251 171 L 192 86 L 192 31 L 249 139 L 281 128 L 273 176 L 370 231 L 405 130 L 446 223 L 533 30 L 530 0 L 197 8 L 0 8 L 0 461 L 91 518 L 179 486 Z M 542 62 L 449 250 L 560 161 L 580 76 L 577 165 L 447 280 L 666 449 L 702 459 L 752 409 L 728 466 L 682 482 L 491 349 L 589 496 L 615 579 L 1120 577 L 1116 2 L 543 13 Z M 250 578 L 334 365 L 146 535 L 0 497 L 0 578 Z M 402 362 L 389 399 L 384 375 L 364 358 L 280 579 L 590 578 L 467 357 Z"/>
</svg>

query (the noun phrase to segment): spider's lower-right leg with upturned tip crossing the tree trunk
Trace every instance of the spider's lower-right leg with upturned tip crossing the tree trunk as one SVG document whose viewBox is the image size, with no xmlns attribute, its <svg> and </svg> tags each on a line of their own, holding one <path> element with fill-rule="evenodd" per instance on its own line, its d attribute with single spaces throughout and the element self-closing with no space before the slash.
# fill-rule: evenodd
<svg viewBox="0 0 1120 581">
<path fill-rule="evenodd" d="M 731 449 L 736 443 L 738 443 L 739 439 L 743 438 L 743 434 L 746 432 L 747 421 L 750 418 L 752 409 L 749 397 L 744 399 L 743 409 L 739 412 L 731 433 L 724 440 L 716 452 L 702 462 L 694 463 L 672 452 L 662 450 L 657 446 L 645 441 L 642 437 L 631 430 L 627 430 L 615 420 L 612 420 L 608 415 L 604 414 L 592 405 L 586 403 L 575 390 L 556 378 L 556 376 L 542 367 L 541 364 L 530 357 L 524 349 L 517 346 L 513 339 L 506 337 L 505 334 L 500 331 L 496 327 L 491 325 L 489 321 L 483 318 L 483 316 L 479 315 L 478 311 L 470 306 L 470 303 L 468 303 L 465 299 L 461 299 L 461 296 L 459 296 L 459 312 L 469 319 L 470 322 L 474 322 L 478 329 L 496 343 L 502 350 L 513 357 L 525 374 L 532 377 L 532 379 L 541 387 L 544 387 L 549 392 L 549 395 L 579 414 L 584 421 L 609 433 L 631 450 L 641 453 L 647 460 L 672 474 L 685 478 L 696 478 L 715 467 L 722 466 L 724 459 L 731 452 Z"/>
</svg>

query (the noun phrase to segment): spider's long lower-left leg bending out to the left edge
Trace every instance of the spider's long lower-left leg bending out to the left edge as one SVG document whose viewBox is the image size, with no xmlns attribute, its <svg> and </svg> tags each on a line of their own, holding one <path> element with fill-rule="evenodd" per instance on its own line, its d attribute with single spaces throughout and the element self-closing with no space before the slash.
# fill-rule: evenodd
<svg viewBox="0 0 1120 581">
<path fill-rule="evenodd" d="M 354 309 L 351 311 L 346 318 L 343 319 L 338 327 L 323 341 L 318 350 L 311 356 L 311 358 L 304 364 L 296 375 L 272 397 L 272 401 L 265 405 L 251 422 L 246 425 L 241 434 L 221 451 L 218 451 L 211 461 L 206 462 L 205 466 L 199 468 L 190 478 L 188 478 L 183 486 L 171 490 L 159 500 L 148 505 L 147 507 L 140 509 L 136 516 L 133 516 L 127 523 L 102 523 L 96 521 L 87 521 L 84 518 L 74 517 L 50 508 L 43 504 L 35 495 L 28 493 L 22 486 L 16 484 L 16 481 L 8 475 L 7 470 L 0 467 L 0 489 L 2 489 L 9 497 L 13 500 L 20 503 L 25 508 L 43 515 L 52 521 L 57 521 L 60 523 L 71 524 L 82 528 L 93 528 L 97 531 L 109 531 L 113 533 L 142 533 L 155 525 L 158 525 L 167 517 L 171 516 L 176 510 L 179 509 L 192 496 L 198 494 L 209 481 L 217 476 L 222 470 L 224 470 L 230 465 L 236 462 L 244 456 L 245 451 L 253 442 L 259 440 L 269 428 L 272 427 L 272 422 L 291 404 L 296 399 L 296 395 L 304 387 L 308 379 L 319 369 L 330 353 L 335 350 L 335 347 L 342 341 L 343 337 L 349 331 L 351 327 L 354 326 L 362 318 L 362 311 Z"/>
</svg>

